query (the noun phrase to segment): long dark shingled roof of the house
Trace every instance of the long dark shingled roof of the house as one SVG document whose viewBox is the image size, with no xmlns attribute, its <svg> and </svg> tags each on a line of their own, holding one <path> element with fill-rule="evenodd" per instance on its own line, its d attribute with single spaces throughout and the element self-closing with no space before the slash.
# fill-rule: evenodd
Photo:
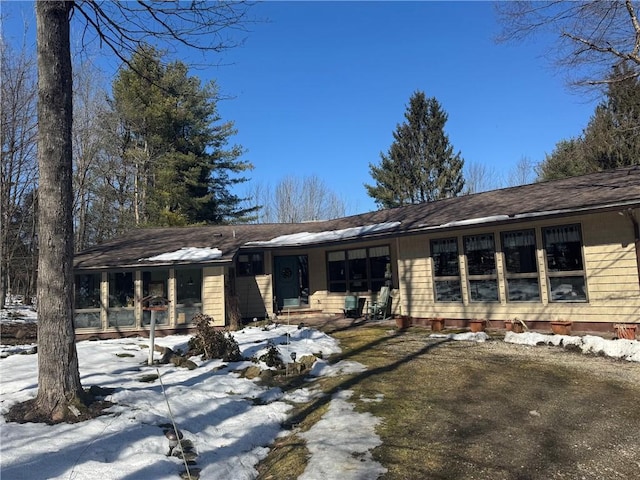
<svg viewBox="0 0 640 480">
<path fill-rule="evenodd" d="M 204 262 L 215 264 L 230 261 L 240 248 L 250 248 L 247 245 L 249 242 L 268 241 L 293 233 L 400 222 L 393 228 L 364 233 L 358 237 L 374 238 L 426 230 L 450 230 L 471 224 L 525 221 L 533 217 L 638 206 L 640 166 L 635 166 L 321 222 L 134 229 L 122 237 L 80 252 L 75 256 L 74 266 L 76 269 L 141 266 L 147 263 L 141 260 L 143 258 L 183 247 L 220 249 L 221 258 Z M 160 265 L 158 262 L 152 264 Z"/>
</svg>

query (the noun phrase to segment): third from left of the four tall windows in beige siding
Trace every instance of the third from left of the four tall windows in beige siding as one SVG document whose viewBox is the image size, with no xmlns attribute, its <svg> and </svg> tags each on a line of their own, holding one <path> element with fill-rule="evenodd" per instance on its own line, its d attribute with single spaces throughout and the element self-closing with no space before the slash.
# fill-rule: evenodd
<svg viewBox="0 0 640 480">
<path fill-rule="evenodd" d="M 539 302 L 540 282 L 534 230 L 502 233 L 507 301 Z"/>
</svg>

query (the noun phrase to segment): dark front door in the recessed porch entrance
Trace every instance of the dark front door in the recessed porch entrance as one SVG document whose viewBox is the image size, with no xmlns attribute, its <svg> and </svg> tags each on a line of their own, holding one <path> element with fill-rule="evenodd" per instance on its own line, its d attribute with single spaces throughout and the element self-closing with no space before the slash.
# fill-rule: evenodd
<svg viewBox="0 0 640 480">
<path fill-rule="evenodd" d="M 275 292 L 278 309 L 299 307 L 308 301 L 307 257 L 274 257 Z"/>
</svg>

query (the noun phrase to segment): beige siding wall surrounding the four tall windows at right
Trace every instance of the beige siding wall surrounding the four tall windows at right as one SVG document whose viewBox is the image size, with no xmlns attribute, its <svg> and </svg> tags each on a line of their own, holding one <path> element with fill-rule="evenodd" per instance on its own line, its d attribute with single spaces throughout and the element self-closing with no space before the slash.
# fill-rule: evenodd
<svg viewBox="0 0 640 480">
<path fill-rule="evenodd" d="M 585 275 L 588 303 L 549 302 L 546 281 L 545 252 L 542 248 L 541 228 L 544 226 L 579 223 L 582 226 Z M 518 225 L 518 229 L 536 229 L 540 302 L 507 302 L 502 255 L 497 255 L 499 302 L 474 303 L 469 300 L 465 275 L 465 257 L 459 242 L 463 301 L 434 302 L 432 265 L 429 242 L 432 238 L 493 233 L 499 249 L 500 232 L 514 230 L 514 226 L 491 229 L 461 230 L 449 235 L 418 235 L 398 240 L 397 272 L 400 291 L 397 300 L 401 313 L 416 318 L 487 318 L 506 320 L 518 317 L 525 320 L 572 320 L 580 322 L 640 322 L 640 283 L 636 263 L 633 229 L 628 218 L 617 212 L 591 216 L 546 220 Z M 400 313 L 397 312 L 396 313 Z"/>
</svg>

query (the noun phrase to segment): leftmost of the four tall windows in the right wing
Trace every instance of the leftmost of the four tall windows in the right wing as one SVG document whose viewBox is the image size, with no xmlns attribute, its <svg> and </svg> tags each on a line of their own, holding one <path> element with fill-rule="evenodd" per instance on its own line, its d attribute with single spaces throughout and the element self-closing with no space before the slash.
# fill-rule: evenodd
<svg viewBox="0 0 640 480">
<path fill-rule="evenodd" d="M 431 240 L 431 260 L 436 302 L 461 302 L 458 240 Z"/>
</svg>

